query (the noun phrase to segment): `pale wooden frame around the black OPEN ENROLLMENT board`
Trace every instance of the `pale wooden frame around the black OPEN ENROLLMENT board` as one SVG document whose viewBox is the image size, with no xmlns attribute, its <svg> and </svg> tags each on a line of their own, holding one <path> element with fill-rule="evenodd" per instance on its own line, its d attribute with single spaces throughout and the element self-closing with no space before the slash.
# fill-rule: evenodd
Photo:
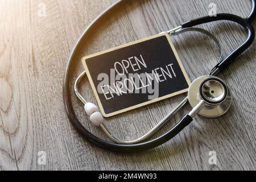
<svg viewBox="0 0 256 182">
<path fill-rule="evenodd" d="M 115 112 L 113 112 L 113 113 L 109 113 L 109 114 L 106 114 L 106 113 L 105 113 L 104 107 L 103 107 L 102 104 L 101 104 L 100 97 L 98 96 L 98 92 L 97 92 L 96 86 L 94 85 L 94 82 L 93 82 L 93 80 L 92 80 L 92 76 L 90 75 L 90 71 L 89 71 L 89 69 L 88 69 L 88 65 L 86 64 L 86 60 L 88 60 L 88 59 L 90 59 L 90 58 L 92 58 L 92 57 L 98 56 L 98 55 L 102 55 L 102 54 L 104 54 L 104 53 L 108 53 L 108 52 L 115 51 L 115 50 L 117 50 L 117 49 L 125 48 L 125 47 L 132 46 L 132 45 L 134 45 L 134 44 L 138 44 L 138 43 L 141 43 L 141 42 L 150 40 L 150 39 L 158 38 L 158 37 L 160 37 L 160 36 L 166 36 L 166 38 L 167 38 L 167 40 L 168 40 L 168 42 L 169 42 L 169 44 L 170 44 L 170 46 L 171 46 L 171 49 L 172 49 L 172 51 L 174 52 L 174 55 L 175 55 L 176 60 L 177 60 L 177 63 L 179 64 L 180 69 L 181 69 L 181 71 L 183 72 L 183 75 L 184 75 L 184 77 L 185 77 L 185 80 L 187 81 L 187 84 L 188 84 L 188 85 L 191 85 L 191 81 L 189 80 L 189 77 L 188 77 L 187 73 L 185 72 L 185 68 L 184 68 L 183 64 L 181 63 L 180 57 L 179 57 L 179 55 L 177 54 L 177 51 L 176 51 L 176 49 L 175 49 L 175 47 L 174 47 L 174 44 L 172 43 L 172 40 L 171 40 L 170 36 L 169 36 L 167 33 L 160 33 L 160 34 L 158 34 L 158 35 L 154 35 L 154 36 L 150 36 L 150 37 L 148 37 L 148 38 L 140 39 L 140 40 L 137 40 L 137 41 L 135 41 L 135 42 L 123 44 L 122 46 L 117 46 L 117 47 L 110 48 L 110 49 L 107 49 L 107 50 L 102 51 L 102 52 L 94 53 L 93 55 L 85 56 L 85 57 L 82 58 L 82 64 L 84 65 L 86 74 L 87 74 L 87 76 L 88 76 L 88 80 L 89 80 L 89 82 L 90 82 L 90 85 L 92 86 L 94 96 L 96 97 L 96 100 L 97 100 L 97 102 L 98 102 L 98 105 L 100 106 L 101 113 L 102 113 L 102 115 L 103 115 L 105 118 L 112 117 L 112 116 L 117 115 L 117 114 L 125 113 L 126 111 L 130 111 L 130 110 L 133 110 L 133 109 L 137 109 L 138 107 L 146 106 L 146 105 L 152 104 L 152 103 L 154 103 L 154 102 L 162 101 L 162 100 L 165 100 L 166 98 L 174 97 L 174 96 L 177 96 L 177 95 L 179 95 L 179 94 L 188 92 L 188 88 L 187 88 L 187 89 L 184 89 L 184 90 L 180 90 L 180 91 L 178 91 L 178 92 L 175 92 L 175 93 L 168 94 L 168 95 L 163 96 L 163 97 L 159 97 L 159 98 L 157 98 L 157 99 L 155 99 L 155 100 L 150 100 L 150 101 L 143 102 L 143 103 L 138 104 L 138 105 L 135 105 L 135 106 L 127 107 L 126 109 L 121 109 L 121 110 L 115 111 Z"/>
</svg>

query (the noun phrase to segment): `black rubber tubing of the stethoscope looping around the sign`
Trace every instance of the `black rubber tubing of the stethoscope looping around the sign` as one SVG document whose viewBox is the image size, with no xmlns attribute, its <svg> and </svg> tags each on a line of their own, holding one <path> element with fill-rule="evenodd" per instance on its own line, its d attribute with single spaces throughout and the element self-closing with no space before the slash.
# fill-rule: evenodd
<svg viewBox="0 0 256 182">
<path fill-rule="evenodd" d="M 166 134 L 163 134 L 162 136 L 147 141 L 143 143 L 138 144 L 116 144 L 116 143 L 110 143 L 108 141 L 102 140 L 92 133 L 90 133 L 88 130 L 85 129 L 84 126 L 80 123 L 79 119 L 76 117 L 75 111 L 73 110 L 73 104 L 71 99 L 71 90 L 72 90 L 72 76 L 71 73 L 74 70 L 73 67 L 73 61 L 75 59 L 76 51 L 81 46 L 82 39 L 88 34 L 90 30 L 94 27 L 94 25 L 99 22 L 102 18 L 105 17 L 106 14 L 108 14 L 111 10 L 115 9 L 119 5 L 122 5 L 122 3 L 125 3 L 126 0 L 122 1 L 119 0 L 116 3 L 114 3 L 112 6 L 110 6 L 108 9 L 106 9 L 103 13 L 101 13 L 96 19 L 93 20 L 93 22 L 85 29 L 85 31 L 82 33 L 80 38 L 77 40 L 75 46 L 73 47 L 73 50 L 71 51 L 71 54 L 68 59 L 67 68 L 65 70 L 65 76 L 64 76 L 64 83 L 63 83 L 63 100 L 64 100 L 64 107 L 67 112 L 69 121 L 72 123 L 75 130 L 84 137 L 88 142 L 98 146 L 105 148 L 106 150 L 115 151 L 115 152 L 139 152 L 144 150 L 150 150 L 151 148 L 155 148 L 160 146 L 161 144 L 167 142 L 171 138 L 175 137 L 178 133 L 180 133 L 181 130 L 183 130 L 186 126 L 189 125 L 189 123 L 192 122 L 192 118 L 189 115 L 185 115 L 183 119 L 177 125 L 175 125 L 170 131 L 168 131 Z M 200 23 L 207 23 L 212 22 L 215 20 L 232 20 L 234 22 L 240 23 L 243 27 L 246 28 L 248 31 L 248 38 L 245 43 L 243 43 L 240 47 L 238 47 L 233 53 L 234 55 L 229 55 L 224 59 L 224 61 L 221 61 L 220 64 L 218 64 L 217 67 L 214 67 L 216 69 L 213 69 L 213 73 L 217 73 L 218 71 L 221 71 L 223 68 L 226 67 L 226 65 L 229 64 L 230 60 L 235 59 L 238 55 L 240 55 L 247 47 L 250 46 L 250 44 L 253 42 L 255 32 L 253 27 L 250 25 L 250 22 L 253 21 L 255 17 L 255 0 L 252 0 L 253 2 L 253 9 L 250 13 L 250 15 L 247 17 L 247 19 L 242 19 L 239 16 L 236 15 L 230 15 L 230 14 L 217 14 L 216 17 L 220 16 L 220 18 L 214 18 L 210 16 L 205 16 L 203 18 L 199 18 L 196 20 L 191 20 L 189 22 L 183 23 L 181 26 L 189 27 L 189 26 L 195 26 Z M 224 16 L 228 15 L 227 18 Z M 203 22 L 206 20 L 207 22 Z M 220 67 L 220 68 L 218 68 Z"/>
</svg>

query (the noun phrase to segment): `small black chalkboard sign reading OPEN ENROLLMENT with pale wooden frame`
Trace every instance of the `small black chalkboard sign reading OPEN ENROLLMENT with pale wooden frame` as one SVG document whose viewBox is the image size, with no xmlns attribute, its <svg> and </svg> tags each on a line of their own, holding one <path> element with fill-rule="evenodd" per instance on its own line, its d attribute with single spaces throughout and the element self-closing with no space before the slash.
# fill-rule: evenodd
<svg viewBox="0 0 256 182">
<path fill-rule="evenodd" d="M 191 82 L 168 34 L 82 59 L 104 117 L 188 91 Z"/>
</svg>

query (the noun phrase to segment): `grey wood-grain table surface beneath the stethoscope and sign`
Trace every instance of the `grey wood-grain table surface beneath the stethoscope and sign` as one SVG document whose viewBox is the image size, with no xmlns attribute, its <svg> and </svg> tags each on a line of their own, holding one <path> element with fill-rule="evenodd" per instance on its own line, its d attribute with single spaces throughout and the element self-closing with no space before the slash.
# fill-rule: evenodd
<svg viewBox="0 0 256 182">
<path fill-rule="evenodd" d="M 0 1 L 0 169 L 255 170 L 255 43 L 218 75 L 228 83 L 234 97 L 229 112 L 223 117 L 197 116 L 174 139 L 137 154 L 102 150 L 76 133 L 65 114 L 62 99 L 65 64 L 84 28 L 114 2 Z M 129 1 L 98 25 L 79 56 L 146 38 L 189 19 L 208 15 L 210 3 L 216 4 L 217 13 L 243 17 L 251 8 L 249 0 Z M 199 27 L 218 37 L 224 56 L 246 38 L 236 23 L 214 22 Z M 209 73 L 217 56 L 210 39 L 189 32 L 173 39 L 191 80 Z M 82 70 L 81 61 L 77 59 L 73 77 Z M 85 79 L 81 89 L 88 100 L 96 103 L 88 80 Z M 106 119 L 106 125 L 119 138 L 135 139 L 155 126 L 184 96 Z M 108 140 L 88 121 L 81 103 L 75 97 L 73 101 L 82 124 Z M 174 126 L 189 109 L 191 107 L 186 106 L 158 135 Z M 217 165 L 209 163 L 210 151 L 216 152 Z M 46 164 L 42 165 L 43 160 L 39 159 L 44 154 Z"/>
</svg>

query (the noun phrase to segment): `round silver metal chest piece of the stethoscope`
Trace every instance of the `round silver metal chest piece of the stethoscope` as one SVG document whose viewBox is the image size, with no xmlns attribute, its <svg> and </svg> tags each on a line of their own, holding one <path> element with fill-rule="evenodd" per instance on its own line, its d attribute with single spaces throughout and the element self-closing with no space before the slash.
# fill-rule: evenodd
<svg viewBox="0 0 256 182">
<path fill-rule="evenodd" d="M 203 102 L 199 115 L 216 118 L 229 110 L 232 96 L 228 86 L 220 78 L 202 76 L 193 81 L 189 87 L 188 100 L 192 107 Z"/>
</svg>

